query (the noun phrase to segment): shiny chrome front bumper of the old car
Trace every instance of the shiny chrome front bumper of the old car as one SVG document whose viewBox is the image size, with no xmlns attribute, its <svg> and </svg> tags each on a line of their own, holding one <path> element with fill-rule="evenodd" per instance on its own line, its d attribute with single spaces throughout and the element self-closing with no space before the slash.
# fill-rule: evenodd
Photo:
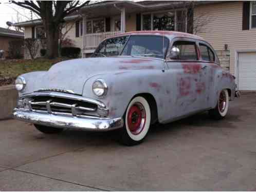
<svg viewBox="0 0 256 192">
<path fill-rule="evenodd" d="M 13 110 L 13 117 L 18 120 L 45 126 L 79 129 L 87 131 L 110 131 L 123 126 L 123 118 L 74 117 L 44 114 L 24 109 Z"/>
</svg>

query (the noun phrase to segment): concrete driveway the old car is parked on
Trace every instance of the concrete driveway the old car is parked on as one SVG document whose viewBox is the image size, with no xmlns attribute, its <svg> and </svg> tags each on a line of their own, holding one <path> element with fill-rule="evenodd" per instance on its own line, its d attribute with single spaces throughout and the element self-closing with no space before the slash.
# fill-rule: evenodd
<svg viewBox="0 0 256 192">
<path fill-rule="evenodd" d="M 231 102 L 225 120 L 207 113 L 152 127 L 126 147 L 115 132 L 44 135 L 0 121 L 0 190 L 256 190 L 256 94 Z"/>
</svg>

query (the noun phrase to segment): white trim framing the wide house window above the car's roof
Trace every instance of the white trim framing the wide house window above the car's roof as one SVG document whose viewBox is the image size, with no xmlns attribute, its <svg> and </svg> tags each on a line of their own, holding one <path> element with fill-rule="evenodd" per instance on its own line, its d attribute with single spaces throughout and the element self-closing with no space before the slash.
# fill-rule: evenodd
<svg viewBox="0 0 256 192">
<path fill-rule="evenodd" d="M 140 29 L 143 31 L 143 15 L 148 15 L 150 14 L 151 16 L 151 25 L 150 25 L 150 30 L 153 31 L 153 15 L 155 13 L 167 13 L 167 12 L 174 12 L 174 31 L 177 31 L 177 11 L 188 11 L 186 8 L 182 9 L 175 9 L 175 10 L 164 10 L 164 11 L 152 11 L 152 12 L 144 12 L 141 13 L 141 18 L 140 18 Z M 185 33 L 188 32 L 188 17 L 186 14 L 186 24 L 185 24 Z"/>
</svg>

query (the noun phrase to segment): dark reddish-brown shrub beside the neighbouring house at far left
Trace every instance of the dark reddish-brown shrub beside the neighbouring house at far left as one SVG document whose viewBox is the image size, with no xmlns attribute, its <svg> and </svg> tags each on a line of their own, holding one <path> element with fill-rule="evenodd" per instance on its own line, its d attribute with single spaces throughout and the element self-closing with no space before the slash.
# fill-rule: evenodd
<svg viewBox="0 0 256 192">
<path fill-rule="evenodd" d="M 8 58 L 9 59 L 22 59 L 23 58 L 23 53 L 22 53 L 23 45 L 24 45 L 23 39 L 9 41 Z"/>
</svg>

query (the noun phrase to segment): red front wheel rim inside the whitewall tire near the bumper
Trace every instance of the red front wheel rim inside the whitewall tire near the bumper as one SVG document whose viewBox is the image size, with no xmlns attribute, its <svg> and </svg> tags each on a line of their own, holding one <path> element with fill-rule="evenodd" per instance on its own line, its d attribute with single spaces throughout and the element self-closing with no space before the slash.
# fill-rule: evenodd
<svg viewBox="0 0 256 192">
<path fill-rule="evenodd" d="M 144 129 L 146 113 L 144 106 L 140 102 L 134 103 L 129 109 L 127 123 L 133 135 L 138 135 Z"/>
</svg>

